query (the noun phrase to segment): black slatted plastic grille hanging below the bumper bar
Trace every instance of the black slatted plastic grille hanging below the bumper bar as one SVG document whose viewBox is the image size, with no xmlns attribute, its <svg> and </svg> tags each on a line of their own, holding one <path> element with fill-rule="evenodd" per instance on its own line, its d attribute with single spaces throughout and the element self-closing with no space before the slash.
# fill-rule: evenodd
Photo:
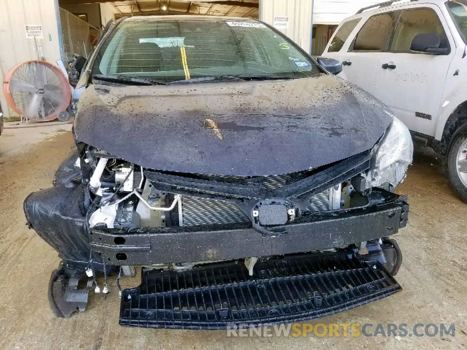
<svg viewBox="0 0 467 350">
<path fill-rule="evenodd" d="M 382 299 L 402 288 L 378 261 L 345 253 L 259 260 L 253 276 L 240 262 L 191 271 L 142 270 L 122 291 L 120 324 L 168 329 L 226 329 L 302 322 Z"/>
</svg>

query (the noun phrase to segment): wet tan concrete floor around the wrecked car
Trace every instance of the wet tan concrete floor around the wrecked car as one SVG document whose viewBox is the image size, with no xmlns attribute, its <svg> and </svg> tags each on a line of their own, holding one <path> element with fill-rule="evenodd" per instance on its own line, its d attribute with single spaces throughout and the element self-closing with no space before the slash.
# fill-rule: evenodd
<svg viewBox="0 0 467 350">
<path fill-rule="evenodd" d="M 0 349 L 465 349 L 467 207 L 429 152 L 417 152 L 398 188 L 411 205 L 409 224 L 396 235 L 404 254 L 396 276 L 403 292 L 320 321 L 455 323 L 454 338 L 228 338 L 223 331 L 123 328 L 113 283 L 107 300 L 90 294 L 85 313 L 55 318 L 47 284 L 59 259 L 26 227 L 22 201 L 50 186 L 73 143 L 69 130 L 69 125 L 9 129 L 0 136 Z M 137 284 L 138 278 L 122 281 L 122 287 Z"/>
</svg>

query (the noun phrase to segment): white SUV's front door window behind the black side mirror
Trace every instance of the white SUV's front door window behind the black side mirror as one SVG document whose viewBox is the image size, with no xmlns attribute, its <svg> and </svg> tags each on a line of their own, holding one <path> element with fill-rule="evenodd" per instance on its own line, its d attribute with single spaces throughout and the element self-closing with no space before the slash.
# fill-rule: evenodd
<svg viewBox="0 0 467 350">
<path fill-rule="evenodd" d="M 389 51 L 410 52 L 413 37 L 422 33 L 436 33 L 441 38 L 442 47 L 449 45 L 438 14 L 431 8 L 417 8 L 404 10 L 400 15 Z"/>
</svg>

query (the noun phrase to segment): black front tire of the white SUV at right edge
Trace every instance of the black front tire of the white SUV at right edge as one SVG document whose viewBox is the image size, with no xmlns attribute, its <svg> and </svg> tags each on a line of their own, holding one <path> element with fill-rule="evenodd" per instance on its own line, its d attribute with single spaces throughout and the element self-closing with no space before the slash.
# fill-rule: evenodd
<svg viewBox="0 0 467 350">
<path fill-rule="evenodd" d="M 467 187 L 457 174 L 457 153 L 465 140 L 467 140 L 467 125 L 462 126 L 453 135 L 446 154 L 446 175 L 456 195 L 467 203 Z"/>
</svg>

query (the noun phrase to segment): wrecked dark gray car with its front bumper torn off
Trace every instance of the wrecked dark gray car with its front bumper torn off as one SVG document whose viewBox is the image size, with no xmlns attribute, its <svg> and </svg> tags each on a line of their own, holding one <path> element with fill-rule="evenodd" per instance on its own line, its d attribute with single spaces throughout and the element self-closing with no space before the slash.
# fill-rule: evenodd
<svg viewBox="0 0 467 350">
<path fill-rule="evenodd" d="M 77 85 L 76 149 L 24 203 L 62 259 L 55 314 L 135 266 L 120 324 L 137 327 L 310 320 L 401 290 L 410 134 L 331 70 L 255 20 L 108 27 Z"/>
</svg>

